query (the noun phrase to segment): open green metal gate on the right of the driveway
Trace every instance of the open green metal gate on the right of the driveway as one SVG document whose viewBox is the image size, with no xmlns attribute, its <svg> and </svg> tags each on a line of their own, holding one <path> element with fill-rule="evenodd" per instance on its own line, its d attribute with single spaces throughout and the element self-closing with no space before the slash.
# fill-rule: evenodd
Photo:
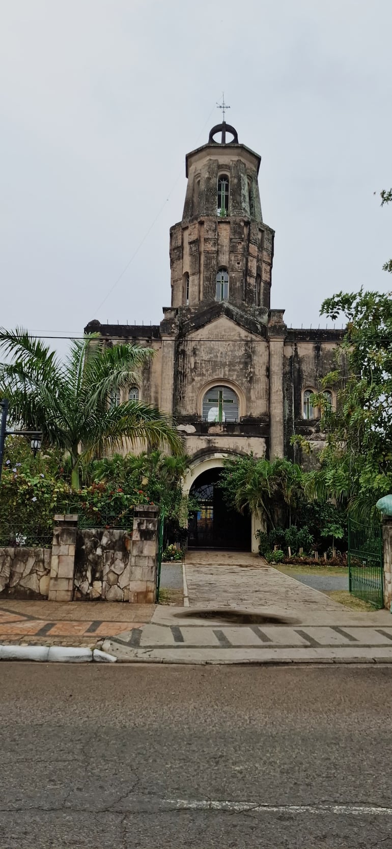
<svg viewBox="0 0 392 849">
<path fill-rule="evenodd" d="M 383 607 L 383 532 L 381 525 L 349 519 L 349 589 L 357 599 Z"/>
</svg>

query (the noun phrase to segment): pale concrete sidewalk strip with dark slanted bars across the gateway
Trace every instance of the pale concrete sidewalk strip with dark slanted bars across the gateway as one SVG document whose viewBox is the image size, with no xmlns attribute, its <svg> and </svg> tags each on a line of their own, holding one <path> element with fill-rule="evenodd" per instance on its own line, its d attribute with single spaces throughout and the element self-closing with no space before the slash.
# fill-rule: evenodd
<svg viewBox="0 0 392 849">
<path fill-rule="evenodd" d="M 385 611 L 386 614 L 386 611 Z M 384 611 L 345 611 L 342 624 L 234 625 L 188 619 L 180 608 L 155 611 L 153 621 L 105 641 L 124 662 L 155 663 L 392 663 L 392 620 Z M 159 621 L 159 620 L 164 621 Z"/>
</svg>

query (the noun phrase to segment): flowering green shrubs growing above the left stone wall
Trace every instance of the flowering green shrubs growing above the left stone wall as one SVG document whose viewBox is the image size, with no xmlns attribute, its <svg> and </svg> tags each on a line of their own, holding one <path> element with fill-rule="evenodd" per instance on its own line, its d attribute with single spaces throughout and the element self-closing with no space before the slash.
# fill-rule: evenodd
<svg viewBox="0 0 392 849">
<path fill-rule="evenodd" d="M 27 538 L 50 543 L 55 513 L 77 513 L 81 526 L 132 527 L 132 509 L 154 503 L 165 513 L 166 537 L 180 534 L 187 520 L 188 499 L 181 480 L 188 459 L 159 451 L 115 455 L 85 464 L 84 486 L 75 491 L 66 482 L 59 449 L 34 458 L 27 441 L 8 437 L 0 487 L 0 538 L 4 545 Z M 31 542 L 33 541 L 33 542 Z"/>
</svg>

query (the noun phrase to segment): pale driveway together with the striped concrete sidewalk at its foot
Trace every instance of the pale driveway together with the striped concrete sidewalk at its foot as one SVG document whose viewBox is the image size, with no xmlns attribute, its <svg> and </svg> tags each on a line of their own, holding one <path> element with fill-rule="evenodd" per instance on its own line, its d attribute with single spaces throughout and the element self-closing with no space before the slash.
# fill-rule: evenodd
<svg viewBox="0 0 392 849">
<path fill-rule="evenodd" d="M 347 610 L 247 553 L 188 552 L 186 574 L 188 609 L 158 606 L 104 650 L 158 663 L 392 662 L 387 610 Z M 230 620 L 240 611 L 249 622 Z"/>
</svg>

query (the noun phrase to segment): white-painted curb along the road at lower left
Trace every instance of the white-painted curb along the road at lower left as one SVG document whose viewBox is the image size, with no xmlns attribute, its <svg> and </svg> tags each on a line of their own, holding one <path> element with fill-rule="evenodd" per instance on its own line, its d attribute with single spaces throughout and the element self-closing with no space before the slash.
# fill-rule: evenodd
<svg viewBox="0 0 392 849">
<path fill-rule="evenodd" d="M 117 658 L 99 649 L 64 645 L 0 645 L 0 661 L 38 663 L 116 663 Z"/>
</svg>

